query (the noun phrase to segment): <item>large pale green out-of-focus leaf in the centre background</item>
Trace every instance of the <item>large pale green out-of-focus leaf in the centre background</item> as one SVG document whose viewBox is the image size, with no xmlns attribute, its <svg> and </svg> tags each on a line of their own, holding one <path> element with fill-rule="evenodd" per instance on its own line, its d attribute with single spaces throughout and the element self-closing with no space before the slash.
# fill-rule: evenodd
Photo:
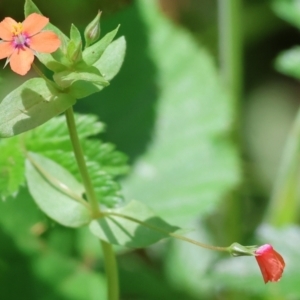
<svg viewBox="0 0 300 300">
<path fill-rule="evenodd" d="M 215 209 L 239 182 L 238 153 L 229 138 L 233 103 L 212 58 L 188 32 L 163 17 L 155 1 L 138 4 L 160 92 L 151 142 L 124 180 L 124 193 L 182 226 Z M 149 90 L 153 86 L 143 86 L 140 99 Z"/>
</svg>

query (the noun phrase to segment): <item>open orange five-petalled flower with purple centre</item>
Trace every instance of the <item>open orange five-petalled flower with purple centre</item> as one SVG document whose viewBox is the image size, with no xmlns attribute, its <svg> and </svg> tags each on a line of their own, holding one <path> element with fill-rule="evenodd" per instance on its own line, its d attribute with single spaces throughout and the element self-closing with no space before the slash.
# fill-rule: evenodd
<svg viewBox="0 0 300 300">
<path fill-rule="evenodd" d="M 42 31 L 49 19 L 33 13 L 23 23 L 12 18 L 0 22 L 0 59 L 7 58 L 11 69 L 25 75 L 31 67 L 35 52 L 52 53 L 60 46 L 52 31 Z"/>
</svg>

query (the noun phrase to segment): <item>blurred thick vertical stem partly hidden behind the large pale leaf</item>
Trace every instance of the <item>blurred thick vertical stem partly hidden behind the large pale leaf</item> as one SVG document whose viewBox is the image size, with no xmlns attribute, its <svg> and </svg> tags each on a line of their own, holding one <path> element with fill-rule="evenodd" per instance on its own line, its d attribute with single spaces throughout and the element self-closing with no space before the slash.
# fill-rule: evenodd
<svg viewBox="0 0 300 300">
<path fill-rule="evenodd" d="M 242 39 L 241 39 L 241 0 L 219 1 L 219 55 L 220 74 L 223 85 L 229 91 L 233 101 L 233 139 L 240 144 L 240 128 L 238 119 L 239 102 L 242 93 Z M 240 231 L 240 195 L 232 192 L 224 203 L 226 236 L 224 242 L 239 240 Z"/>
</svg>

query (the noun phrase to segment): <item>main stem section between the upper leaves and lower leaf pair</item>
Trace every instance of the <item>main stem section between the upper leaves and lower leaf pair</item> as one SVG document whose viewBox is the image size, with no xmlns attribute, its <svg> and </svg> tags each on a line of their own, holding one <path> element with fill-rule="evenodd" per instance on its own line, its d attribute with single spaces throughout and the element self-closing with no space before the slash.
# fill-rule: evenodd
<svg viewBox="0 0 300 300">
<path fill-rule="evenodd" d="M 79 138 L 78 138 L 78 134 L 77 134 L 77 130 L 76 130 L 75 119 L 74 119 L 73 108 L 72 107 L 68 108 L 66 110 L 65 114 L 66 114 L 68 129 L 69 129 L 69 135 L 70 135 L 70 139 L 71 139 L 72 146 L 73 146 L 73 151 L 75 154 L 79 172 L 82 177 L 83 185 L 85 187 L 86 197 L 88 199 L 88 202 L 91 205 L 93 215 L 97 216 L 100 213 L 100 208 L 99 208 L 99 204 L 97 201 L 95 190 L 92 185 L 91 178 L 90 178 L 88 170 L 87 170 L 87 166 L 86 166 L 85 159 L 83 156 L 83 151 L 82 151 L 82 148 L 81 148 L 81 145 L 79 142 Z"/>
</svg>

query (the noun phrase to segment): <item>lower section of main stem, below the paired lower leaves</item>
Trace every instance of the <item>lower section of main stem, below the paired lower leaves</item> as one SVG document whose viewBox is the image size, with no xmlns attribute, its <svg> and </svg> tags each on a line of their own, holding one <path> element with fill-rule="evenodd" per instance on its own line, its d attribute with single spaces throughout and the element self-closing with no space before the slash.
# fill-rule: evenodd
<svg viewBox="0 0 300 300">
<path fill-rule="evenodd" d="M 109 300 L 118 300 L 119 299 L 119 277 L 118 277 L 118 268 L 117 261 L 114 255 L 112 245 L 101 241 L 103 256 L 104 256 L 104 265 L 106 270 L 107 277 L 107 299 Z"/>
</svg>

